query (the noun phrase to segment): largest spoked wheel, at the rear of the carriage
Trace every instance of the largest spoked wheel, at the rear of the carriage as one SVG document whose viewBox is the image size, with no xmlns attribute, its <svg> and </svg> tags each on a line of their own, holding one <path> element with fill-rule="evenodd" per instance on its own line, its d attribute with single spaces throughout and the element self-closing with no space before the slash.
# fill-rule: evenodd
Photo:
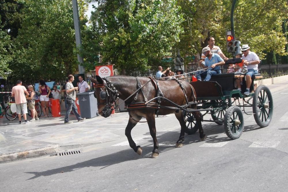
<svg viewBox="0 0 288 192">
<path fill-rule="evenodd" d="M 260 85 L 255 90 L 252 108 L 257 125 L 268 126 L 273 115 L 273 99 L 270 90 L 265 85 Z"/>
</svg>

